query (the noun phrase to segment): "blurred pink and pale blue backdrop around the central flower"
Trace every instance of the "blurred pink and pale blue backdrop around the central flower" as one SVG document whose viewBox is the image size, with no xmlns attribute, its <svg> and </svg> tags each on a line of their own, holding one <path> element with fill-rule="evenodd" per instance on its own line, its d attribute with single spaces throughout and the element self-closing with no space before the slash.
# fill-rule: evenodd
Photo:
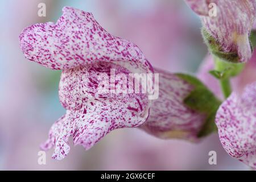
<svg viewBox="0 0 256 182">
<path fill-rule="evenodd" d="M 38 16 L 40 2 L 46 3 L 46 17 Z M 196 72 L 207 55 L 200 20 L 184 1 L 1 1 L 0 169 L 248 169 L 226 154 L 217 134 L 195 144 L 157 139 L 139 129 L 115 130 L 89 151 L 72 147 L 61 161 L 51 159 L 52 150 L 48 151 L 46 165 L 39 165 L 39 144 L 64 113 L 57 92 L 60 71 L 24 59 L 18 36 L 33 23 L 55 22 L 63 6 L 92 12 L 110 33 L 137 44 L 155 67 Z M 208 163 L 208 152 L 212 150 L 217 152 L 217 165 Z"/>
</svg>

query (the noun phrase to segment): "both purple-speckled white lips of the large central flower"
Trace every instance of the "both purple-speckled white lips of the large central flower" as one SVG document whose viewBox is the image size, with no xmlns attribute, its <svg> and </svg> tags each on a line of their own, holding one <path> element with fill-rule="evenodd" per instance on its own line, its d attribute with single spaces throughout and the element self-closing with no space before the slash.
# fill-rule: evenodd
<svg viewBox="0 0 256 182">
<path fill-rule="evenodd" d="M 75 144 L 88 150 L 110 131 L 146 121 L 151 104 L 147 93 L 98 92 L 101 73 L 109 76 L 114 70 L 128 82 L 129 73 L 152 73 L 153 69 L 137 46 L 110 35 L 92 14 L 64 7 L 56 24 L 32 25 L 19 38 L 27 59 L 63 69 L 59 97 L 67 113 L 53 124 L 41 146 L 43 150 L 56 146 L 53 159 L 61 160 L 68 154 L 71 136 Z M 110 80 L 108 86 L 121 81 Z M 107 91 L 110 87 L 105 85 Z"/>
</svg>

